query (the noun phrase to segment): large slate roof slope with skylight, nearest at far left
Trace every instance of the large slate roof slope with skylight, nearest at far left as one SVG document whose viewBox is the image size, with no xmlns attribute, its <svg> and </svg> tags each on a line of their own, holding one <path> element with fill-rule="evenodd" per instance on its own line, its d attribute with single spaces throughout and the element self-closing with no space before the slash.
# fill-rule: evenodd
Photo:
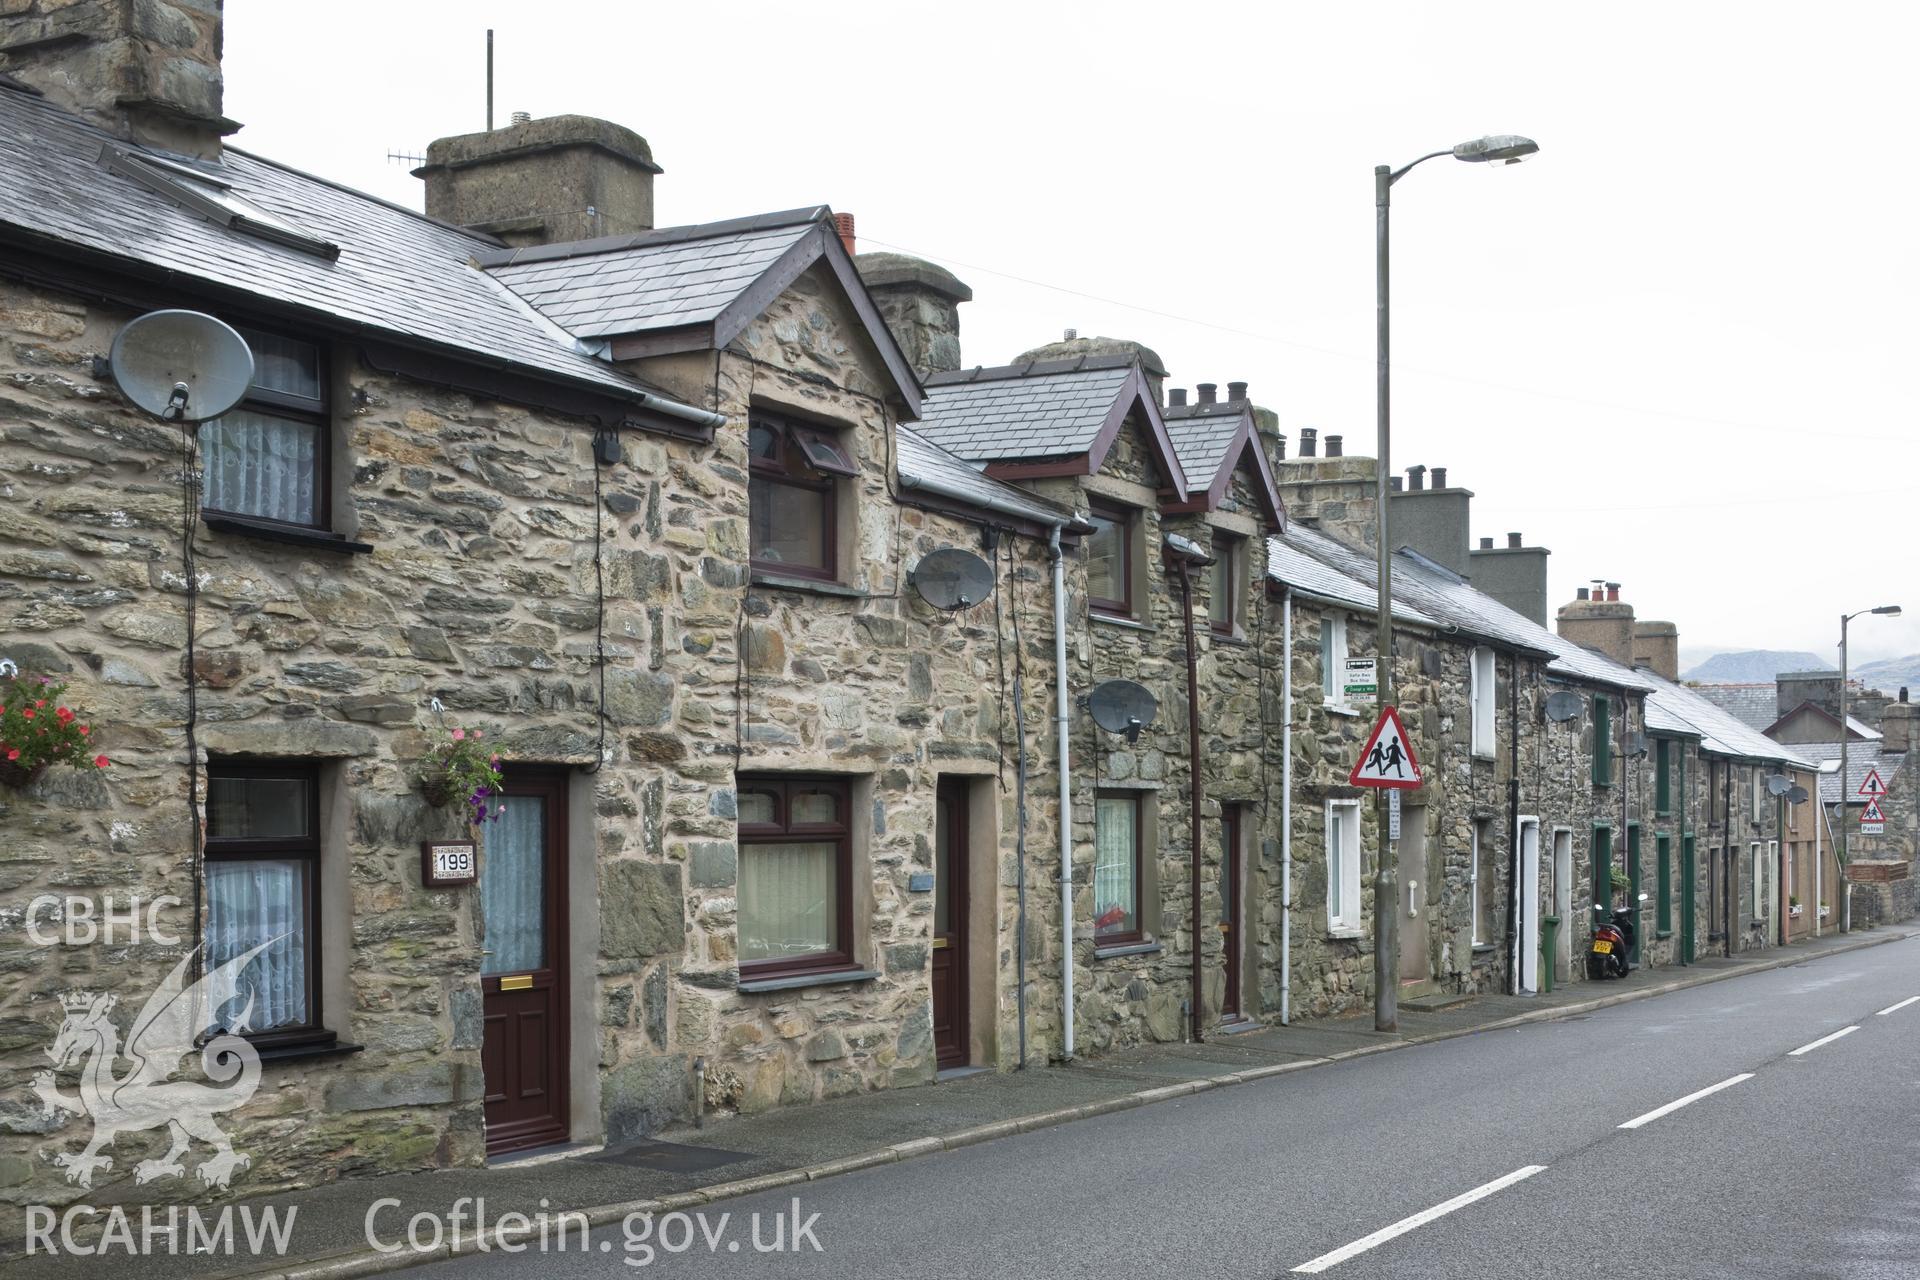
<svg viewBox="0 0 1920 1280">
<path fill-rule="evenodd" d="M 227 148 L 194 165 L 267 213 L 340 246 L 307 253 L 221 226 L 111 173 L 104 148 L 144 155 L 31 92 L 0 88 L 0 226 L 150 273 L 236 290 L 276 313 L 323 317 L 403 345 L 511 365 L 551 382 L 632 395 L 643 384 L 582 353 L 472 265 L 493 246 L 397 205 Z M 180 163 L 175 157 L 163 157 Z"/>
</svg>

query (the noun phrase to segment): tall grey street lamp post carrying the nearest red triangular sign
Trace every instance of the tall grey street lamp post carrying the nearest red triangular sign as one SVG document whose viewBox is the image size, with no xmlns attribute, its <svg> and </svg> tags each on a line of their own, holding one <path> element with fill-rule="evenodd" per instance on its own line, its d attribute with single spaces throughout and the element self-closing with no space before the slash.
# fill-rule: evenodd
<svg viewBox="0 0 1920 1280">
<path fill-rule="evenodd" d="M 1379 413 L 1373 478 L 1375 539 L 1379 555 L 1380 601 L 1375 649 L 1379 652 L 1377 681 L 1380 687 L 1380 706 L 1392 706 L 1394 693 L 1394 606 L 1392 606 L 1392 543 L 1386 537 L 1386 478 L 1392 474 L 1392 395 L 1386 365 L 1388 345 L 1388 307 L 1386 307 L 1386 211 L 1388 192 L 1394 182 L 1407 177 L 1413 165 L 1440 155 L 1452 155 L 1469 163 L 1517 165 L 1523 157 L 1538 152 L 1532 138 L 1498 134 L 1461 142 L 1450 152 L 1428 152 L 1413 163 L 1390 169 L 1377 165 L 1373 171 L 1373 271 L 1375 271 L 1375 340 L 1379 361 L 1375 368 L 1375 409 Z M 1380 831 L 1380 865 L 1373 879 L 1373 1025 L 1377 1031 L 1396 1031 L 1400 1027 L 1400 890 L 1394 885 L 1392 848 L 1386 839 L 1384 800 L 1375 798 L 1375 818 Z"/>
</svg>

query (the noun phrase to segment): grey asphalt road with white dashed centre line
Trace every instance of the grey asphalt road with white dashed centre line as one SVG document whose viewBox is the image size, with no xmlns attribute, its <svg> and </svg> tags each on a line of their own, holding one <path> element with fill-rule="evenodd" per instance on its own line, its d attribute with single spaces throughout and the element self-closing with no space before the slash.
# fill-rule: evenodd
<svg viewBox="0 0 1920 1280">
<path fill-rule="evenodd" d="M 829 1178 L 820 1251 L 787 1188 L 417 1274 L 1916 1278 L 1908 996 L 1920 938 Z"/>
</svg>

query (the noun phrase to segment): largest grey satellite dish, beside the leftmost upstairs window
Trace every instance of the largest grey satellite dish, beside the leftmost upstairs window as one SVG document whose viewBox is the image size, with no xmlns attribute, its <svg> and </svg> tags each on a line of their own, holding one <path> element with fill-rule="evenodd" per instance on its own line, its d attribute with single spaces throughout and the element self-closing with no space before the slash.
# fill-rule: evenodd
<svg viewBox="0 0 1920 1280">
<path fill-rule="evenodd" d="M 200 311 L 148 311 L 115 338 L 108 368 L 121 393 L 163 422 L 205 422 L 246 395 L 253 351 Z"/>
</svg>

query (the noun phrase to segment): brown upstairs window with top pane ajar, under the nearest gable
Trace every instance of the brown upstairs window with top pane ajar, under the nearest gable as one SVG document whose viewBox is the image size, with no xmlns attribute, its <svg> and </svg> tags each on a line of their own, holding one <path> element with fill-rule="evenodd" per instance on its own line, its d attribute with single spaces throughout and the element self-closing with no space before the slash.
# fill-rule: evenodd
<svg viewBox="0 0 1920 1280">
<path fill-rule="evenodd" d="M 856 472 L 831 434 L 755 413 L 747 424 L 747 507 L 753 568 L 795 578 L 839 578 L 839 482 Z"/>
</svg>

